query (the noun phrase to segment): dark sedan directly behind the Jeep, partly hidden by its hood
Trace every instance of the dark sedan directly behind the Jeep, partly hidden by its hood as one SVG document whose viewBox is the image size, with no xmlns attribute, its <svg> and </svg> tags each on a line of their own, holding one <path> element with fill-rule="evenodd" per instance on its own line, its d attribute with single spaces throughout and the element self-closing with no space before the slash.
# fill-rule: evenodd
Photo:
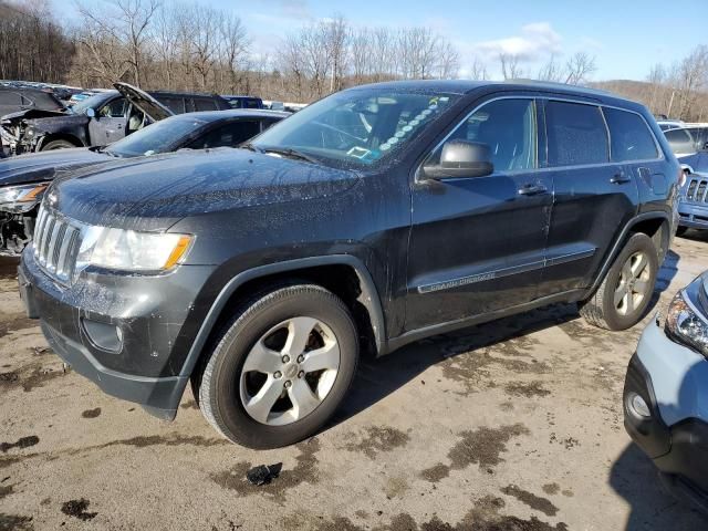
<svg viewBox="0 0 708 531">
<path fill-rule="evenodd" d="M 149 96 L 148 96 L 149 97 Z M 289 116 L 267 110 L 189 113 L 159 119 L 153 101 L 135 102 L 155 124 L 106 147 L 33 153 L 0 160 L 0 256 L 19 256 L 31 241 L 34 220 L 46 186 L 86 166 L 115 166 L 126 159 L 177 149 L 236 147 Z"/>
</svg>

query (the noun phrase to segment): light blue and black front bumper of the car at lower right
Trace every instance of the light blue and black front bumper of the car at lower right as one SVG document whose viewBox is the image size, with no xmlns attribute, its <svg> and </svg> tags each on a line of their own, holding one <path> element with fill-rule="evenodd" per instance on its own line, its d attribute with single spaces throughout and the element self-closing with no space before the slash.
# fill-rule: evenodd
<svg viewBox="0 0 708 531">
<path fill-rule="evenodd" d="M 708 507 L 708 421 L 705 393 L 708 362 L 666 337 L 650 323 L 625 379 L 625 429 L 636 445 L 669 478 L 668 485 Z M 633 394 L 648 406 L 649 416 L 632 407 Z"/>
</svg>

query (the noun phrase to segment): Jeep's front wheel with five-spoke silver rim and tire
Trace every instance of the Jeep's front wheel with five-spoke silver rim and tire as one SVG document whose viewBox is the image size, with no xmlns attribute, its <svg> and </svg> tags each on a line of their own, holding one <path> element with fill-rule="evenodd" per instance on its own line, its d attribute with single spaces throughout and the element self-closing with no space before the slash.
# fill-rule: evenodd
<svg viewBox="0 0 708 531">
<path fill-rule="evenodd" d="M 237 312 L 195 375 L 206 419 L 249 448 L 278 448 L 317 433 L 356 371 L 352 315 L 332 292 L 294 284 L 257 295 Z"/>
</svg>

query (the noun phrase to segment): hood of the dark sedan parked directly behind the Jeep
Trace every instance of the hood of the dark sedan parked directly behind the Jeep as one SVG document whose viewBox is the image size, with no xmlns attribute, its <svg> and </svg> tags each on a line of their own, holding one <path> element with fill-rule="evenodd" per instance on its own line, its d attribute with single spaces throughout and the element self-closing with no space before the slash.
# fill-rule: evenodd
<svg viewBox="0 0 708 531">
<path fill-rule="evenodd" d="M 52 180 L 66 171 L 113 160 L 95 149 L 53 149 L 0 159 L 0 187 Z"/>
</svg>

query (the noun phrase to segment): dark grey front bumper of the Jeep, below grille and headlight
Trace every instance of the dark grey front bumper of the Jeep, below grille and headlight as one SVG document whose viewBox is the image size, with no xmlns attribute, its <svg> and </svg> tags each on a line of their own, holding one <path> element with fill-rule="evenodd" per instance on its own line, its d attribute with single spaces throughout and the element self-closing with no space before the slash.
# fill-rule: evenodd
<svg viewBox="0 0 708 531">
<path fill-rule="evenodd" d="M 18 280 L 28 315 L 41 320 L 64 362 L 105 393 L 171 419 L 189 379 L 184 362 L 206 313 L 199 293 L 212 270 L 181 266 L 162 277 L 84 271 L 66 287 L 39 268 L 30 246 Z"/>
</svg>

